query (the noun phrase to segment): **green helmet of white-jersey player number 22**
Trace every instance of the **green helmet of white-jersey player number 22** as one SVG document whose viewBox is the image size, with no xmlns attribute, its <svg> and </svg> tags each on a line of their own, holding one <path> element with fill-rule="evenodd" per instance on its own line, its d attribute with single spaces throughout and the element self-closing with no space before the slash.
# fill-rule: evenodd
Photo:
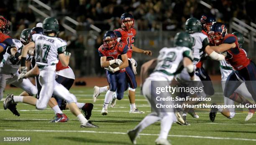
<svg viewBox="0 0 256 145">
<path fill-rule="evenodd" d="M 186 32 L 179 32 L 174 37 L 174 46 L 184 46 L 192 49 L 195 39 Z"/>
</svg>

